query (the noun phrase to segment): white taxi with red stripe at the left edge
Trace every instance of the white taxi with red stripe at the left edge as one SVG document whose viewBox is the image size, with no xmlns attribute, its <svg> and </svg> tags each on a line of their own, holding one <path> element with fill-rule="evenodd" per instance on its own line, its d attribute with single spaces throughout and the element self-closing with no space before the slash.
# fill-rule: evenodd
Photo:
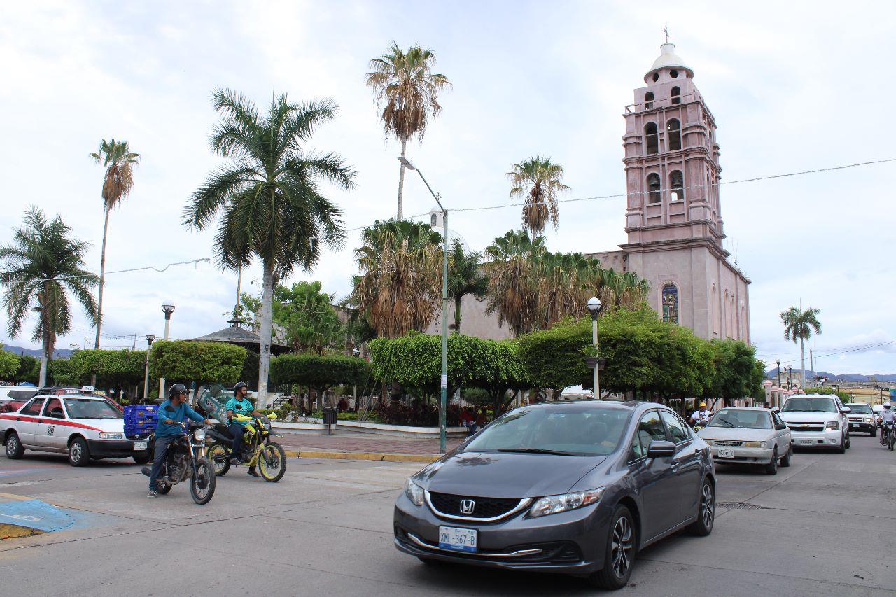
<svg viewBox="0 0 896 597">
<path fill-rule="evenodd" d="M 36 396 L 18 411 L 0 413 L 0 437 L 7 458 L 22 458 L 25 450 L 34 450 L 68 454 L 73 466 L 84 466 L 91 458 L 150 461 L 149 442 L 127 439 L 122 411 L 96 395 Z"/>
</svg>

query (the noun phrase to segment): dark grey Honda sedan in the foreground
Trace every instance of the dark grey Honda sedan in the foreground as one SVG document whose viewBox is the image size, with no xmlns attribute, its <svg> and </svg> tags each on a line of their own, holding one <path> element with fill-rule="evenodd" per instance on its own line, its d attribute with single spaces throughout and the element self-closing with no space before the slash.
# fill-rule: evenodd
<svg viewBox="0 0 896 597">
<path fill-rule="evenodd" d="M 652 402 L 542 402 L 492 421 L 405 482 L 395 547 L 437 560 L 587 576 L 620 588 L 640 549 L 708 535 L 709 446 Z"/>
</svg>

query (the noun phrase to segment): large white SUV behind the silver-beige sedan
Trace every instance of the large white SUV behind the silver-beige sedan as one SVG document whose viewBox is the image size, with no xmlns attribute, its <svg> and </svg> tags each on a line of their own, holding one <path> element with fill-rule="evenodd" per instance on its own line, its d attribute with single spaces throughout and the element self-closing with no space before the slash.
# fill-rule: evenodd
<svg viewBox="0 0 896 597">
<path fill-rule="evenodd" d="M 828 394 L 798 394 L 788 398 L 780 410 L 797 447 L 835 448 L 840 454 L 849 447 L 849 407 Z"/>
</svg>

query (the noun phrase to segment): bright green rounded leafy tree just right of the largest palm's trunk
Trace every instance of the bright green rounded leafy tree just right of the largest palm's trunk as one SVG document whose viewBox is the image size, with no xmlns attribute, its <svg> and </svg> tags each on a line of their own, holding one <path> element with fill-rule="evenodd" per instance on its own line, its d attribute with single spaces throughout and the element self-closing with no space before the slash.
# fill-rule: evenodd
<svg viewBox="0 0 896 597">
<path fill-rule="evenodd" d="M 332 302 L 333 296 L 321 290 L 319 281 L 274 289 L 273 319 L 285 330 L 286 342 L 293 350 L 323 355 L 323 350 L 345 337 Z"/>
</svg>

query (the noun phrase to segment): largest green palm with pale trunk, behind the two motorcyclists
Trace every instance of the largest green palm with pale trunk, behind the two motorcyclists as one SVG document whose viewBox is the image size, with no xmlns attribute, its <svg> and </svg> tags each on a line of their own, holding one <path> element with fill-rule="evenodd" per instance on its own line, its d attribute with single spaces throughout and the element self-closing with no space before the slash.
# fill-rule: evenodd
<svg viewBox="0 0 896 597">
<path fill-rule="evenodd" d="M 222 212 L 215 238 L 220 264 L 235 270 L 254 255 L 262 260 L 258 400 L 263 404 L 271 366 L 274 283 L 297 265 L 310 272 L 320 257 L 321 241 L 333 249 L 342 247 L 340 209 L 321 195 L 320 185 L 327 181 L 349 189 L 355 173 L 339 155 L 306 148 L 316 128 L 336 116 L 332 99 L 292 103 L 284 93 L 271 99 L 264 116 L 236 91 L 214 91 L 211 103 L 221 115 L 211 149 L 229 161 L 193 194 L 184 223 L 206 229 Z"/>
</svg>

